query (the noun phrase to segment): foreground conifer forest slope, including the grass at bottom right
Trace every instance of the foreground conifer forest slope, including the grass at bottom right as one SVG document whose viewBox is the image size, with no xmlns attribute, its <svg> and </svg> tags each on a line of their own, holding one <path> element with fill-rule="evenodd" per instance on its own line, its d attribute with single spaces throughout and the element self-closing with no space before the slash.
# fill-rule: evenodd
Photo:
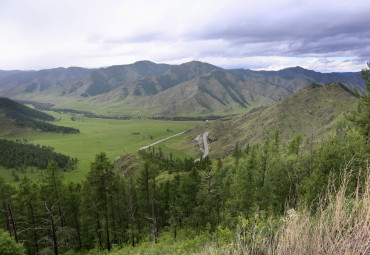
<svg viewBox="0 0 370 255">
<path fill-rule="evenodd" d="M 370 92 L 369 72 L 364 78 Z M 296 135 L 285 145 L 279 130 L 271 130 L 258 145 L 236 144 L 232 162 L 194 163 L 149 148 L 139 153 L 140 172 L 120 176 L 100 153 L 77 184 L 65 183 L 51 161 L 40 183 L 25 177 L 15 189 L 0 179 L 0 222 L 28 254 L 127 254 L 184 236 L 192 241 L 168 253 L 191 254 L 194 246 L 213 243 L 204 253 L 366 254 L 369 116 L 368 93 L 320 144 Z M 299 242 L 303 237 L 307 242 Z M 317 240 L 325 243 L 318 250 L 307 245 Z"/>
</svg>

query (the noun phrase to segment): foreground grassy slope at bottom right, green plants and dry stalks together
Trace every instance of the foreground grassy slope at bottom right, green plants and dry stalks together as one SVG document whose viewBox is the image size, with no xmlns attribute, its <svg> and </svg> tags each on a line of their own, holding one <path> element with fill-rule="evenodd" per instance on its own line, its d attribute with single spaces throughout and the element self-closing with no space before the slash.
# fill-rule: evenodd
<svg viewBox="0 0 370 255">
<path fill-rule="evenodd" d="M 350 174 L 345 174 L 339 189 L 329 187 L 315 213 L 304 206 L 287 210 L 277 224 L 249 229 L 239 224 L 233 244 L 209 243 L 201 254 L 370 255 L 369 167 L 365 177 L 353 194 L 347 194 Z"/>
</svg>

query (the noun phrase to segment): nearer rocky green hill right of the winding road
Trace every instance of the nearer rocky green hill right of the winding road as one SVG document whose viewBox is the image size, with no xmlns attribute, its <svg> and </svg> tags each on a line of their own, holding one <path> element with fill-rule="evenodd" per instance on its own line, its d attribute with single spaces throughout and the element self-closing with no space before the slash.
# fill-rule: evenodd
<svg viewBox="0 0 370 255">
<path fill-rule="evenodd" d="M 308 86 L 294 95 L 271 105 L 234 117 L 228 121 L 205 123 L 193 130 L 193 135 L 209 131 L 210 155 L 230 155 L 238 143 L 244 148 L 263 140 L 268 130 L 274 135 L 279 129 L 283 142 L 301 134 L 303 141 L 313 136 L 321 140 L 334 131 L 343 112 L 355 106 L 357 97 L 341 84 Z"/>
</svg>

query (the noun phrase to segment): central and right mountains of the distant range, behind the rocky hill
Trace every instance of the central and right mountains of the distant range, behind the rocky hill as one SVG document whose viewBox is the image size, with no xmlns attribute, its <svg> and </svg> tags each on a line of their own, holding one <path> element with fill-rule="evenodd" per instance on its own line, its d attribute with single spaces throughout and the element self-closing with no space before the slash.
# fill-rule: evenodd
<svg viewBox="0 0 370 255">
<path fill-rule="evenodd" d="M 271 105 L 312 82 L 325 84 L 326 81 L 346 81 L 349 87 L 363 88 L 359 73 L 322 74 L 303 68 L 278 72 L 224 70 L 190 62 L 163 75 L 118 87 L 92 99 L 91 103 L 114 105 L 118 115 L 227 115 Z"/>
</svg>

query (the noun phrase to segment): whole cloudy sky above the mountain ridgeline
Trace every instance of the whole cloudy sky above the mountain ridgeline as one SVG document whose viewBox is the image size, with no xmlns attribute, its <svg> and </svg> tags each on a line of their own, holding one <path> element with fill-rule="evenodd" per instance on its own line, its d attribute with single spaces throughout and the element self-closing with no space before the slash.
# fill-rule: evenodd
<svg viewBox="0 0 370 255">
<path fill-rule="evenodd" d="M 369 0 L 0 0 L 0 70 L 193 60 L 356 72 Z"/>
</svg>

